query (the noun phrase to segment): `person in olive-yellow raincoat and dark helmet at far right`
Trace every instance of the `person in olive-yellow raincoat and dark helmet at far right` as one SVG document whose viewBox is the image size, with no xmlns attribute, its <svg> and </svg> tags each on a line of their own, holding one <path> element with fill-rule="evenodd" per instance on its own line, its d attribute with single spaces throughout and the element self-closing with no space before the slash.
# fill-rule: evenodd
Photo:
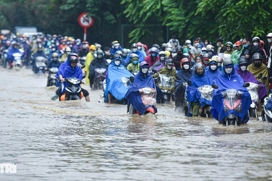
<svg viewBox="0 0 272 181">
<path fill-rule="evenodd" d="M 262 63 L 262 54 L 260 53 L 253 54 L 252 61 L 253 63 L 248 65 L 247 70 L 250 71 L 255 76 L 256 79 L 260 73 L 262 73 L 262 76 L 268 77 L 267 67 Z M 262 83 L 265 85 L 267 91 L 269 91 L 268 78 L 262 81 Z"/>
</svg>

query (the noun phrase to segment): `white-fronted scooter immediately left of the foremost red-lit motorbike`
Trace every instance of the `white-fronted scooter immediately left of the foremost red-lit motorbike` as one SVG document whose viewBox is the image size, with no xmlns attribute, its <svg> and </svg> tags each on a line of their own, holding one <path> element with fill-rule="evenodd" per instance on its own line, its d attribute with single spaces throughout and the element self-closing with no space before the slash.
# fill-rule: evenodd
<svg viewBox="0 0 272 181">
<path fill-rule="evenodd" d="M 187 84 L 189 86 L 192 86 L 190 80 L 187 80 Z M 201 107 L 199 107 L 198 115 L 201 117 L 213 118 L 211 113 L 211 103 L 214 96 L 214 88 L 211 85 L 202 85 L 200 87 L 197 87 L 196 89 L 201 95 Z"/>
</svg>

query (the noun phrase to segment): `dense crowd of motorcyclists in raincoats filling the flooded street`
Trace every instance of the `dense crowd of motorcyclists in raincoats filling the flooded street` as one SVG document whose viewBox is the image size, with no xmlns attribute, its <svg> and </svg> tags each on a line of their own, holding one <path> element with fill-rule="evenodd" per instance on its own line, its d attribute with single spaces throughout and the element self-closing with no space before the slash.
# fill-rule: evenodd
<svg viewBox="0 0 272 181">
<path fill-rule="evenodd" d="M 154 44 L 148 49 L 141 42 L 123 48 L 113 41 L 102 48 L 62 35 L 1 35 L 1 64 L 13 68 L 21 59 L 20 67 L 49 71 L 46 85 L 58 87 L 53 100 L 85 97 L 90 102 L 88 91 L 80 87 L 86 77 L 91 90 L 103 89 L 106 103 L 128 104 L 130 113 L 156 113 L 157 102 L 175 102 L 175 111 L 185 111 L 186 116 L 214 117 L 222 124 L 234 124 L 230 122 L 236 119 L 235 124 L 243 124 L 253 101 L 256 110 L 261 109 L 269 96 L 272 33 L 266 38 L 266 46 L 258 37 L 235 43 L 218 38 L 216 49 L 208 39 L 202 42 L 197 37 L 181 46 L 173 36 L 161 47 Z M 246 82 L 256 84 L 258 99 Z"/>
</svg>

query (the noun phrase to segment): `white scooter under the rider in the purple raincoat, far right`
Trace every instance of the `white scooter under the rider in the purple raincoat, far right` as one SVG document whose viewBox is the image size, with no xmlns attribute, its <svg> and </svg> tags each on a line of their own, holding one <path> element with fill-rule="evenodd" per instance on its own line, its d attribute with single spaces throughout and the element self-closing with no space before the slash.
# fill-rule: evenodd
<svg viewBox="0 0 272 181">
<path fill-rule="evenodd" d="M 258 81 L 266 80 L 266 76 L 262 77 L 262 73 L 258 76 Z M 250 94 L 252 104 L 250 105 L 250 109 L 248 110 L 249 116 L 253 118 L 257 118 L 257 109 L 259 105 L 259 95 L 258 90 L 261 87 L 258 83 L 248 82 L 249 86 L 247 87 L 248 93 Z"/>
</svg>

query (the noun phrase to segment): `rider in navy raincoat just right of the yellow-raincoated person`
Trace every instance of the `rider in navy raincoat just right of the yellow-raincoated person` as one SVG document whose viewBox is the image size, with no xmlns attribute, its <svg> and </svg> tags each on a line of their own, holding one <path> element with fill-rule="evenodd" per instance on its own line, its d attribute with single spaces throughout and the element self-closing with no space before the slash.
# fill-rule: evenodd
<svg viewBox="0 0 272 181">
<path fill-rule="evenodd" d="M 90 80 L 90 87 L 92 89 L 94 81 L 95 81 L 95 69 L 96 68 L 108 68 L 107 60 L 103 56 L 102 50 L 97 50 L 97 57 L 93 59 L 89 66 L 89 80 Z"/>
</svg>

